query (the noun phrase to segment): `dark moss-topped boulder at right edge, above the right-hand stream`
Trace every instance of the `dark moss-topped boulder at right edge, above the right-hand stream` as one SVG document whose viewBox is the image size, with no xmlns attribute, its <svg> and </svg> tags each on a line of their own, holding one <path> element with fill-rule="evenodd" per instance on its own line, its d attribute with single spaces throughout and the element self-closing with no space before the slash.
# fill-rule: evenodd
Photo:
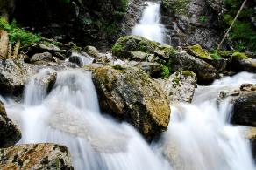
<svg viewBox="0 0 256 170">
<path fill-rule="evenodd" d="M 234 52 L 231 61 L 232 71 L 251 71 L 256 72 L 256 60 L 249 58 L 245 53 Z"/>
</svg>

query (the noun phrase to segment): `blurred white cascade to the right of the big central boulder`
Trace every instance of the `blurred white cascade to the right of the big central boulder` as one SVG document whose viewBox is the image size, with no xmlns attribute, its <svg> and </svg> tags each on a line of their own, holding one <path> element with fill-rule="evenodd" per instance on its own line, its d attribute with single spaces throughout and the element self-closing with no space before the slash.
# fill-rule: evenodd
<svg viewBox="0 0 256 170">
<path fill-rule="evenodd" d="M 170 160 L 174 170 L 255 170 L 245 127 L 229 124 L 232 105 L 217 105 L 220 91 L 243 83 L 256 84 L 256 75 L 242 72 L 196 89 L 192 105 L 172 107 L 171 122 L 155 150 Z"/>
</svg>

